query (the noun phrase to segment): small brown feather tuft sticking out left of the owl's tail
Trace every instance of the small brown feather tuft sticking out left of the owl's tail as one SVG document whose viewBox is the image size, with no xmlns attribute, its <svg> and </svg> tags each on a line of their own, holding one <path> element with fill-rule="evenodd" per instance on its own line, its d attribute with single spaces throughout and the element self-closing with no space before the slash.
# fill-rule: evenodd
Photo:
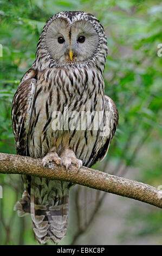
<svg viewBox="0 0 162 256">
<path fill-rule="evenodd" d="M 22 198 L 16 202 L 14 211 L 17 211 L 19 217 L 30 214 L 30 196 L 26 190 L 23 192 Z"/>
</svg>

